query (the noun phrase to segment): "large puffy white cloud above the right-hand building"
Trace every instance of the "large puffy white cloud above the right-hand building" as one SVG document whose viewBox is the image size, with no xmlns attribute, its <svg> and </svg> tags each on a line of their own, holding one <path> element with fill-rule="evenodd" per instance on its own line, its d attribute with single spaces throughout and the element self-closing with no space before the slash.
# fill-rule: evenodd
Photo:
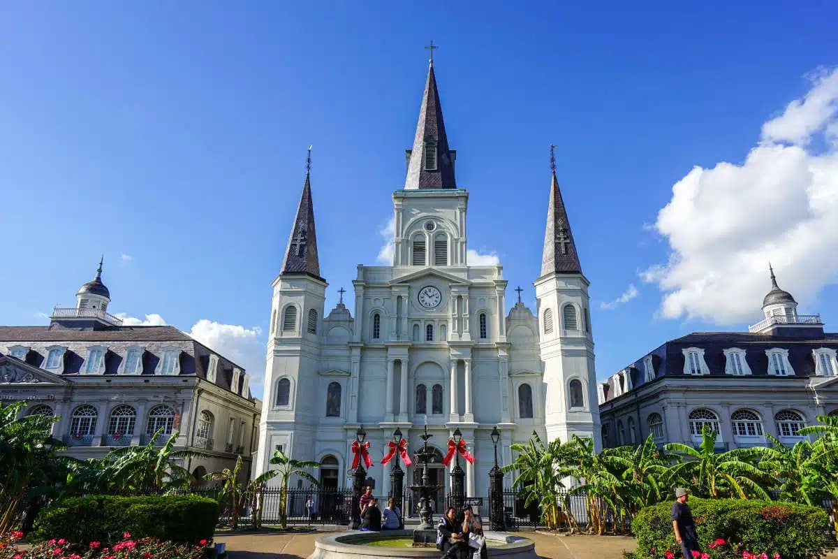
<svg viewBox="0 0 838 559">
<path fill-rule="evenodd" d="M 743 163 L 695 167 L 673 186 L 654 223 L 669 242 L 668 261 L 640 274 L 665 292 L 665 318 L 757 318 L 770 288 L 768 261 L 799 301 L 835 282 L 836 131 L 838 69 L 815 75 L 802 99 L 766 122 Z"/>
</svg>

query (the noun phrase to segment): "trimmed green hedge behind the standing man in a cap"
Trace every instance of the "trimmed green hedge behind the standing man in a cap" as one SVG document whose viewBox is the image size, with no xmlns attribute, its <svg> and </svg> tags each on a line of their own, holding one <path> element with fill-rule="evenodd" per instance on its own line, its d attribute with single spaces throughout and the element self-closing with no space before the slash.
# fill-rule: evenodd
<svg viewBox="0 0 838 559">
<path fill-rule="evenodd" d="M 779 553 L 783 559 L 816 559 L 835 546 L 825 510 L 794 503 L 754 499 L 689 500 L 696 519 L 701 551 L 710 556 L 742 556 L 742 551 Z M 672 503 L 660 503 L 640 510 L 632 519 L 637 537 L 638 559 L 660 559 L 666 551 L 680 556 L 675 543 L 670 510 Z M 722 546 L 711 546 L 716 539 Z"/>
</svg>

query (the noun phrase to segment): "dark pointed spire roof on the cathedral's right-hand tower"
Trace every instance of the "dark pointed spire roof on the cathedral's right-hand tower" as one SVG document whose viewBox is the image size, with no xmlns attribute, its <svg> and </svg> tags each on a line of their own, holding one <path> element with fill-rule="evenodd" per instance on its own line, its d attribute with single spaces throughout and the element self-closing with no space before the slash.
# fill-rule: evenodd
<svg viewBox="0 0 838 559">
<path fill-rule="evenodd" d="M 541 275 L 581 274 L 582 264 L 576 243 L 573 241 L 571 223 L 567 219 L 564 200 L 561 199 L 559 180 L 556 179 L 556 156 L 550 145 L 550 208 L 547 210 L 547 226 L 544 234 L 544 256 L 541 258 Z"/>
</svg>

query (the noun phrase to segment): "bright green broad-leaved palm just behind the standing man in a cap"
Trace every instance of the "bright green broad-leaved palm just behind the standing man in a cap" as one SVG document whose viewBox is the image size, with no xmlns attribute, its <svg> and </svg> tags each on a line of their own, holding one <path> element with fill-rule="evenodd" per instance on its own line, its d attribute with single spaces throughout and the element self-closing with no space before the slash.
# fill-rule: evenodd
<svg viewBox="0 0 838 559">
<path fill-rule="evenodd" d="M 687 458 L 673 466 L 671 473 L 691 484 L 696 494 L 714 499 L 725 494 L 740 499 L 747 499 L 748 494 L 771 499 L 759 484 L 768 474 L 754 464 L 761 453 L 758 448 L 734 448 L 716 454 L 716 432 L 706 425 L 698 449 L 682 443 L 668 443 L 665 448 Z"/>
</svg>

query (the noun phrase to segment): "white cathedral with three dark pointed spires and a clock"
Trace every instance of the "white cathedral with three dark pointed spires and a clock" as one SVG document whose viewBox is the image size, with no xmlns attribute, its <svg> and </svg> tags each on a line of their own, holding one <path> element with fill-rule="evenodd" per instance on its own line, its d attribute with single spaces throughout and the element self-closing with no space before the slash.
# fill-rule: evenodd
<svg viewBox="0 0 838 559">
<path fill-rule="evenodd" d="M 601 448 L 588 281 L 555 167 L 534 282 L 538 308 L 534 315 L 519 302 L 506 314 L 503 267 L 466 260 L 468 192 L 455 180 L 456 155 L 431 61 L 405 186 L 392 195 L 392 266 L 359 265 L 352 312 L 339 303 L 328 316 L 307 173 L 273 282 L 256 475 L 282 448 L 320 463 L 312 474 L 324 487 L 350 487 L 350 445 L 361 426 L 375 460 L 368 473 L 375 494 L 390 487 L 391 464 L 380 459 L 396 427 L 412 455 L 427 422 L 439 451 L 432 484 L 446 492 L 450 476 L 440 459 L 459 428 L 476 458 L 461 459 L 467 494 L 476 497 L 489 493 L 494 426 L 502 433 L 501 465 L 513 458 L 510 445 L 534 430 L 550 440 L 593 437 Z M 405 484 L 414 479 L 407 468 Z M 511 480 L 507 475 L 506 484 Z"/>
</svg>

